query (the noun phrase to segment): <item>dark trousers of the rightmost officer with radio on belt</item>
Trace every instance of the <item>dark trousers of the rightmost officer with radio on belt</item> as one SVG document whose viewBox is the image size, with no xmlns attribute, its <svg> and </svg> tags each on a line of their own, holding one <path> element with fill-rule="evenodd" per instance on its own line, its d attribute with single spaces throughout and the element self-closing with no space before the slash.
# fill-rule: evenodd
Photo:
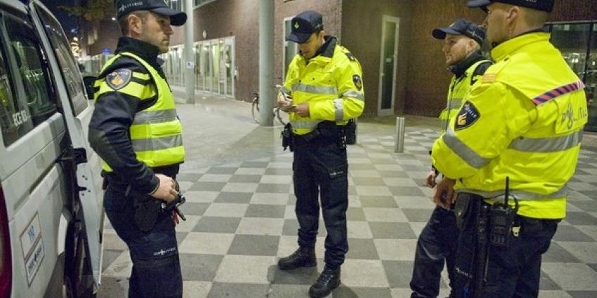
<svg viewBox="0 0 597 298">
<path fill-rule="evenodd" d="M 476 216 L 476 215 L 473 215 Z M 487 246 L 487 268 L 483 298 L 536 298 L 539 296 L 541 257 L 549 249 L 558 228 L 556 219 L 534 219 L 516 215 L 518 237 L 511 235 L 507 247 Z M 475 225 L 461 231 L 455 272 L 454 293 L 458 298 L 472 297 L 473 257 L 477 231 Z"/>
</svg>

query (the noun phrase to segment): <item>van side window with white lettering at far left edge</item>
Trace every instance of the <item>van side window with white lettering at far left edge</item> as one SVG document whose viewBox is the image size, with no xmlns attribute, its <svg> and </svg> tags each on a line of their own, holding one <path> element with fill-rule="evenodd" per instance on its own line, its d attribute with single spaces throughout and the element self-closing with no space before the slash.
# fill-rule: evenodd
<svg viewBox="0 0 597 298">
<path fill-rule="evenodd" d="M 3 97 L 0 125 L 4 144 L 8 146 L 57 109 L 41 44 L 33 27 L 25 20 L 8 15 L 2 15 L 1 23 L 8 32 L 8 41 L 0 39 L 0 96 Z M 19 89 L 22 93 L 18 93 Z"/>
</svg>

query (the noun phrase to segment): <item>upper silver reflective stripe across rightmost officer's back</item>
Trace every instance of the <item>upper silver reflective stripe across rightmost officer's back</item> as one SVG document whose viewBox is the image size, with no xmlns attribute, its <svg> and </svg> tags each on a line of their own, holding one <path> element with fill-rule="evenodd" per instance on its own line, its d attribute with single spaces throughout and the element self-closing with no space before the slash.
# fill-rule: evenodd
<svg viewBox="0 0 597 298">
<path fill-rule="evenodd" d="M 533 139 L 524 137 L 513 140 L 509 149 L 524 152 L 555 152 L 564 151 L 577 146 L 582 141 L 582 130 L 562 137 L 543 137 Z"/>
</svg>

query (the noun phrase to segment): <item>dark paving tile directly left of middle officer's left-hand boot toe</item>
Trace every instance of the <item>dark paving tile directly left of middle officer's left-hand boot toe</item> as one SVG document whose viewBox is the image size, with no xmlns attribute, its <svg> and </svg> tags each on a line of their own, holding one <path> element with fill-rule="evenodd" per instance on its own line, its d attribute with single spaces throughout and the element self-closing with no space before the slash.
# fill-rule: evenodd
<svg viewBox="0 0 597 298">
<path fill-rule="evenodd" d="M 280 236 L 236 235 L 228 255 L 275 256 Z"/>
</svg>

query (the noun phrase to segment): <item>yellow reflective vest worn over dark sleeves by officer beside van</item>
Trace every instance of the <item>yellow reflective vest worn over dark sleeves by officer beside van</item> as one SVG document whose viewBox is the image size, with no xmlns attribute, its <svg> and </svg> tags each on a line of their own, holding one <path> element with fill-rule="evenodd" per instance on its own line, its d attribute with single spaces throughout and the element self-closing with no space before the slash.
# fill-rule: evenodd
<svg viewBox="0 0 597 298">
<path fill-rule="evenodd" d="M 130 74 L 112 74 L 112 76 L 99 78 L 94 84 L 94 86 L 99 87 L 99 90 L 93 97 L 101 100 L 100 95 L 103 93 L 117 91 L 137 97 L 139 100 L 147 100 L 155 97 L 157 93 L 155 104 L 135 114 L 135 120 L 130 127 L 133 150 L 138 161 L 142 161 L 150 168 L 182 163 L 185 160 L 183 127 L 181 122 L 178 121 L 174 97 L 168 83 L 154 67 L 133 53 L 119 53 L 106 62 L 103 69 L 110 67 L 122 55 L 132 57 L 140 62 L 149 74 L 131 72 Z M 106 80 L 122 79 L 119 76 L 132 76 L 133 79 L 126 86 L 114 90 Z M 151 83 L 147 83 L 151 80 L 154 81 L 157 90 L 152 87 Z M 114 84 L 112 83 L 112 85 Z M 107 172 L 112 171 L 110 165 L 105 162 L 103 163 L 103 169 Z"/>
</svg>

